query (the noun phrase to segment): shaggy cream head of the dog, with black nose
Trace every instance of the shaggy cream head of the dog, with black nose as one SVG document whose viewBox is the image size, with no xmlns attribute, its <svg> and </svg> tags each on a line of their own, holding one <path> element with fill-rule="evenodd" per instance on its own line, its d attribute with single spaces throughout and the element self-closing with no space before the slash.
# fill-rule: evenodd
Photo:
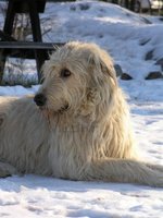
<svg viewBox="0 0 163 218">
<path fill-rule="evenodd" d="M 34 99 L 40 109 L 96 116 L 111 108 L 115 71 L 110 56 L 95 44 L 66 44 L 42 71 L 45 81 Z"/>
</svg>

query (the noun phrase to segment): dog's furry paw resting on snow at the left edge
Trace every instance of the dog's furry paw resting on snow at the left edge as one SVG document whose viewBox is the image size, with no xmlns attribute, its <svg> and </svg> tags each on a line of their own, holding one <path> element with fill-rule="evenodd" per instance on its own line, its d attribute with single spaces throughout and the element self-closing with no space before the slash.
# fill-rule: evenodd
<svg viewBox="0 0 163 218">
<path fill-rule="evenodd" d="M 0 161 L 0 178 L 10 177 L 12 174 L 17 174 L 17 170 L 11 165 Z"/>
</svg>

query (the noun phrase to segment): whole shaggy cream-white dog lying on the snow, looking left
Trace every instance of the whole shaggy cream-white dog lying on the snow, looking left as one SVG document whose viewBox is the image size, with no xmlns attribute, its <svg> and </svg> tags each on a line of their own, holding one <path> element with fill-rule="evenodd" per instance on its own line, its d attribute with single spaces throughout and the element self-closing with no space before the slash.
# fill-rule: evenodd
<svg viewBox="0 0 163 218">
<path fill-rule="evenodd" d="M 163 167 L 139 161 L 110 56 L 68 43 L 43 66 L 33 97 L 0 98 L 0 177 L 37 173 L 163 186 Z"/>
</svg>

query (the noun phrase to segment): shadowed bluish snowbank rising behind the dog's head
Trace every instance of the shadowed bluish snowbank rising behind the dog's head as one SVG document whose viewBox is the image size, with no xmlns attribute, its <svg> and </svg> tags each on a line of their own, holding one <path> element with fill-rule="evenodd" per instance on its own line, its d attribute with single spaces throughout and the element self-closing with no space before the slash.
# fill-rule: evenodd
<svg viewBox="0 0 163 218">
<path fill-rule="evenodd" d="M 142 78 L 163 58 L 163 22 L 141 17 L 118 5 L 99 2 L 57 3 L 47 5 L 41 15 L 47 41 L 95 41 L 110 51 L 114 61 L 134 78 Z M 155 22 L 156 21 L 156 22 Z M 153 50 L 152 60 L 145 61 Z M 140 73 L 141 72 L 141 73 Z"/>
</svg>

